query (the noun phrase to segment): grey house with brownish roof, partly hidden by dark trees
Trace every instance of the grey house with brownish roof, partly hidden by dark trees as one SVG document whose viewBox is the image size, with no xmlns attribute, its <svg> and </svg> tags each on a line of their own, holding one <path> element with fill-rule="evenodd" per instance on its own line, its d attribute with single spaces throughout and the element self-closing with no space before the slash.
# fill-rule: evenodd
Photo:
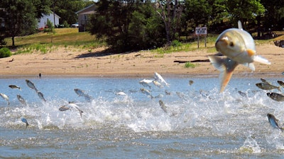
<svg viewBox="0 0 284 159">
<path fill-rule="evenodd" d="M 78 15 L 78 24 L 79 24 L 79 31 L 83 32 L 86 31 L 87 25 L 89 23 L 90 17 L 89 15 L 95 13 L 96 6 L 92 4 L 91 6 L 87 6 L 80 11 L 77 11 L 76 14 Z"/>
</svg>

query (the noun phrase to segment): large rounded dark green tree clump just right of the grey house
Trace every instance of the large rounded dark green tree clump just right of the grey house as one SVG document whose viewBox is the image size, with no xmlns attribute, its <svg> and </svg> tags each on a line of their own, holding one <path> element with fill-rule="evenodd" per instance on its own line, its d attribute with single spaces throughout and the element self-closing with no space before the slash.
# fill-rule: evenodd
<svg viewBox="0 0 284 159">
<path fill-rule="evenodd" d="M 89 32 L 117 52 L 165 44 L 163 21 L 151 1 L 107 1 L 97 4 Z"/>
</svg>

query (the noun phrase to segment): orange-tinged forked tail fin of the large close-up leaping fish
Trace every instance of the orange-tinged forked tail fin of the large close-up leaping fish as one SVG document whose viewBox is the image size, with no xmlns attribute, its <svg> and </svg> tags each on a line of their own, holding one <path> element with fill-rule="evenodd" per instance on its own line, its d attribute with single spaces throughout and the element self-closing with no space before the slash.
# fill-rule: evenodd
<svg viewBox="0 0 284 159">
<path fill-rule="evenodd" d="M 229 83 L 233 71 L 238 66 L 236 61 L 233 61 L 229 58 L 220 58 L 215 56 L 208 57 L 213 66 L 220 71 L 219 78 L 221 78 L 221 89 L 220 92 L 223 92 L 226 88 L 226 85 Z"/>
</svg>

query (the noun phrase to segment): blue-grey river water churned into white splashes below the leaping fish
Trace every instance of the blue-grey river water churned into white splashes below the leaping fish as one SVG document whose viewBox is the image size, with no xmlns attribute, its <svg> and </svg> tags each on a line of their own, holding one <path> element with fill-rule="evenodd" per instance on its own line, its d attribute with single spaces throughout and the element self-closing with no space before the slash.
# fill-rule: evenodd
<svg viewBox="0 0 284 159">
<path fill-rule="evenodd" d="M 216 77 L 164 78 L 169 87 L 142 86 L 143 78 L 28 78 L 46 102 L 26 78 L 0 78 L 10 102 L 0 98 L 0 158 L 282 158 L 283 132 L 266 116 L 284 121 L 283 103 L 266 95 L 278 90 L 257 88 L 259 78 L 233 77 L 224 93 Z M 58 110 L 70 101 L 82 117 L 76 109 Z"/>
</svg>

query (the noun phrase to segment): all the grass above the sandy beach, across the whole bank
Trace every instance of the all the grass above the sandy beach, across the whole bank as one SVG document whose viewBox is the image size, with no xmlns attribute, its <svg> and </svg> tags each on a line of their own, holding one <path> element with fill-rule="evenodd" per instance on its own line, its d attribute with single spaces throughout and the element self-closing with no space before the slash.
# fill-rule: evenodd
<svg viewBox="0 0 284 159">
<path fill-rule="evenodd" d="M 256 45 L 262 43 L 273 42 L 273 40 L 284 40 L 284 32 L 275 32 L 278 37 L 271 40 L 256 40 Z M 53 43 L 51 43 L 51 37 L 53 36 Z M 195 42 L 179 43 L 175 47 L 162 47 L 152 50 L 152 52 L 158 52 L 161 54 L 170 52 L 188 52 L 197 49 L 197 37 Z M 205 49 L 206 52 L 215 52 L 214 42 L 217 35 L 209 35 L 207 37 L 207 47 L 204 47 L 204 37 L 200 37 L 200 49 Z M 11 38 L 6 39 L 7 45 L 11 46 Z M 50 35 L 48 33 L 36 33 L 34 35 L 28 35 L 23 37 L 15 37 L 15 45 L 18 46 L 18 52 L 21 54 L 25 52 L 33 52 L 32 50 L 43 49 L 48 47 L 83 47 L 84 49 L 92 49 L 95 47 L 103 46 L 104 43 L 99 42 L 94 35 L 90 35 L 87 32 L 79 33 L 77 28 L 57 28 L 55 34 Z M 42 51 L 46 53 L 46 51 Z"/>
</svg>

